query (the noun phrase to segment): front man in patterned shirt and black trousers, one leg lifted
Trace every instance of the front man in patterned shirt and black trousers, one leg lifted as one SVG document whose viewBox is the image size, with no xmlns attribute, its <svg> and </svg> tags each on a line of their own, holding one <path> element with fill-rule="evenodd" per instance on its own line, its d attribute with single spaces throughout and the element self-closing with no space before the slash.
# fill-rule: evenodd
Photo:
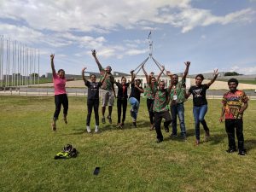
<svg viewBox="0 0 256 192">
<path fill-rule="evenodd" d="M 157 138 L 157 143 L 161 143 L 164 140 L 164 137 L 161 132 L 161 121 L 162 119 L 166 119 L 164 122 L 165 130 L 166 132 L 169 132 L 168 126 L 172 123 L 172 118 L 171 114 L 169 113 L 169 94 L 171 87 L 168 89 L 165 89 L 165 82 L 160 81 L 159 83 L 159 89 L 156 90 L 155 96 L 154 96 L 154 106 L 153 106 L 153 111 L 154 111 L 154 127 L 156 131 L 156 138 Z"/>
</svg>

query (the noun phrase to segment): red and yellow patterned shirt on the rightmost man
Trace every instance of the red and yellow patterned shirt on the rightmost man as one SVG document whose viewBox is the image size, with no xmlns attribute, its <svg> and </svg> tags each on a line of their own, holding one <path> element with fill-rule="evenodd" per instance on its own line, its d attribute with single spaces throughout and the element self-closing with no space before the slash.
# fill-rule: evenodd
<svg viewBox="0 0 256 192">
<path fill-rule="evenodd" d="M 243 103 L 248 101 L 248 97 L 242 90 L 236 90 L 235 93 L 227 92 L 224 94 L 222 102 L 225 108 L 225 119 L 242 119 L 242 113 L 239 113 Z"/>
</svg>

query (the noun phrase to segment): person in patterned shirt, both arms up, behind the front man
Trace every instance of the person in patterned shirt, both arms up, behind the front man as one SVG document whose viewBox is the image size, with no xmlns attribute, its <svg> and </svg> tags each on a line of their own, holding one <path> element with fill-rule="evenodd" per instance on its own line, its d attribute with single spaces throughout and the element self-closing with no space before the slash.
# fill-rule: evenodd
<svg viewBox="0 0 256 192">
<path fill-rule="evenodd" d="M 148 108 L 148 115 L 150 120 L 150 131 L 154 130 L 154 112 L 153 112 L 153 105 L 154 105 L 154 90 L 157 89 L 158 82 L 160 79 L 161 74 L 164 72 L 163 70 L 160 71 L 157 79 L 154 78 L 154 73 L 151 72 L 148 76 L 144 68 L 144 64 L 142 66 L 143 73 L 145 74 L 147 86 L 145 88 L 144 96 L 147 97 L 147 108 Z"/>
</svg>

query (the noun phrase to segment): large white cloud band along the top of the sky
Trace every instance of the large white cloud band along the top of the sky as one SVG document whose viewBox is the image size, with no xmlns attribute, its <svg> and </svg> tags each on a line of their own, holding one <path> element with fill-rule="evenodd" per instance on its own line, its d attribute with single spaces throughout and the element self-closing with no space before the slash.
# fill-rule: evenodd
<svg viewBox="0 0 256 192">
<path fill-rule="evenodd" d="M 252 9 L 224 16 L 207 9 L 194 9 L 189 0 L 112 0 L 112 1 L 2 1 L 0 18 L 23 21 L 36 30 L 55 32 L 110 32 L 125 28 L 154 29 L 154 24 L 169 24 L 189 32 L 196 26 L 253 20 Z"/>
</svg>

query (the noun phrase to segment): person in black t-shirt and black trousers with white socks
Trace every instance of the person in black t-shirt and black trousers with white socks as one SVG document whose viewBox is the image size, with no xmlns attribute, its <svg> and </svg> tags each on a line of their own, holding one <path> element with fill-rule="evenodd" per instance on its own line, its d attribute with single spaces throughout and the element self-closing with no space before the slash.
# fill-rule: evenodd
<svg viewBox="0 0 256 192">
<path fill-rule="evenodd" d="M 82 69 L 82 77 L 84 80 L 84 84 L 88 87 L 88 94 L 87 94 L 87 119 L 86 119 L 86 130 L 90 132 L 90 116 L 92 112 L 92 108 L 94 108 L 95 114 L 95 132 L 99 131 L 99 89 L 102 86 L 102 82 L 106 79 L 107 73 L 105 73 L 101 82 L 96 82 L 96 75 L 90 75 L 90 81 L 85 79 L 84 72 L 86 67 Z"/>
</svg>

